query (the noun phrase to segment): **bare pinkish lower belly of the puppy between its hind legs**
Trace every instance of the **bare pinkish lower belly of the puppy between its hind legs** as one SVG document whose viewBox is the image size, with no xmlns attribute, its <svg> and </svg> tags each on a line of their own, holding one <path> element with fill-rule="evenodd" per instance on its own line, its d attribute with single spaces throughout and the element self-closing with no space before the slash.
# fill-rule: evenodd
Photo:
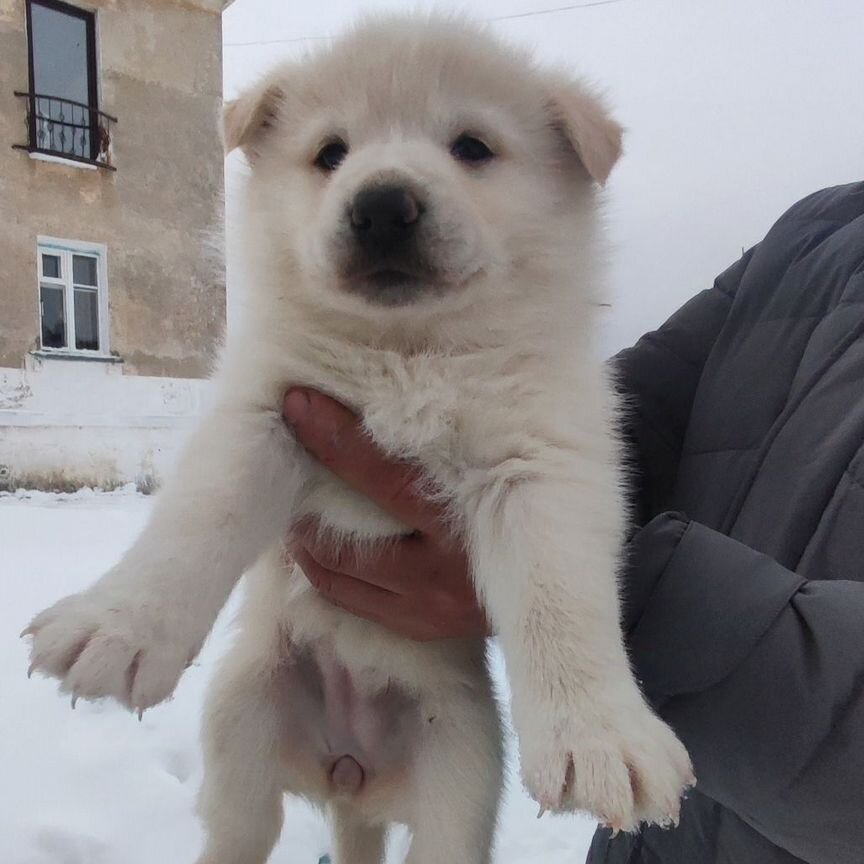
<svg viewBox="0 0 864 864">
<path fill-rule="evenodd" d="M 278 674 L 283 759 L 316 797 L 376 798 L 403 780 L 422 731 L 404 687 L 370 687 L 326 642 L 295 648 Z"/>
</svg>

